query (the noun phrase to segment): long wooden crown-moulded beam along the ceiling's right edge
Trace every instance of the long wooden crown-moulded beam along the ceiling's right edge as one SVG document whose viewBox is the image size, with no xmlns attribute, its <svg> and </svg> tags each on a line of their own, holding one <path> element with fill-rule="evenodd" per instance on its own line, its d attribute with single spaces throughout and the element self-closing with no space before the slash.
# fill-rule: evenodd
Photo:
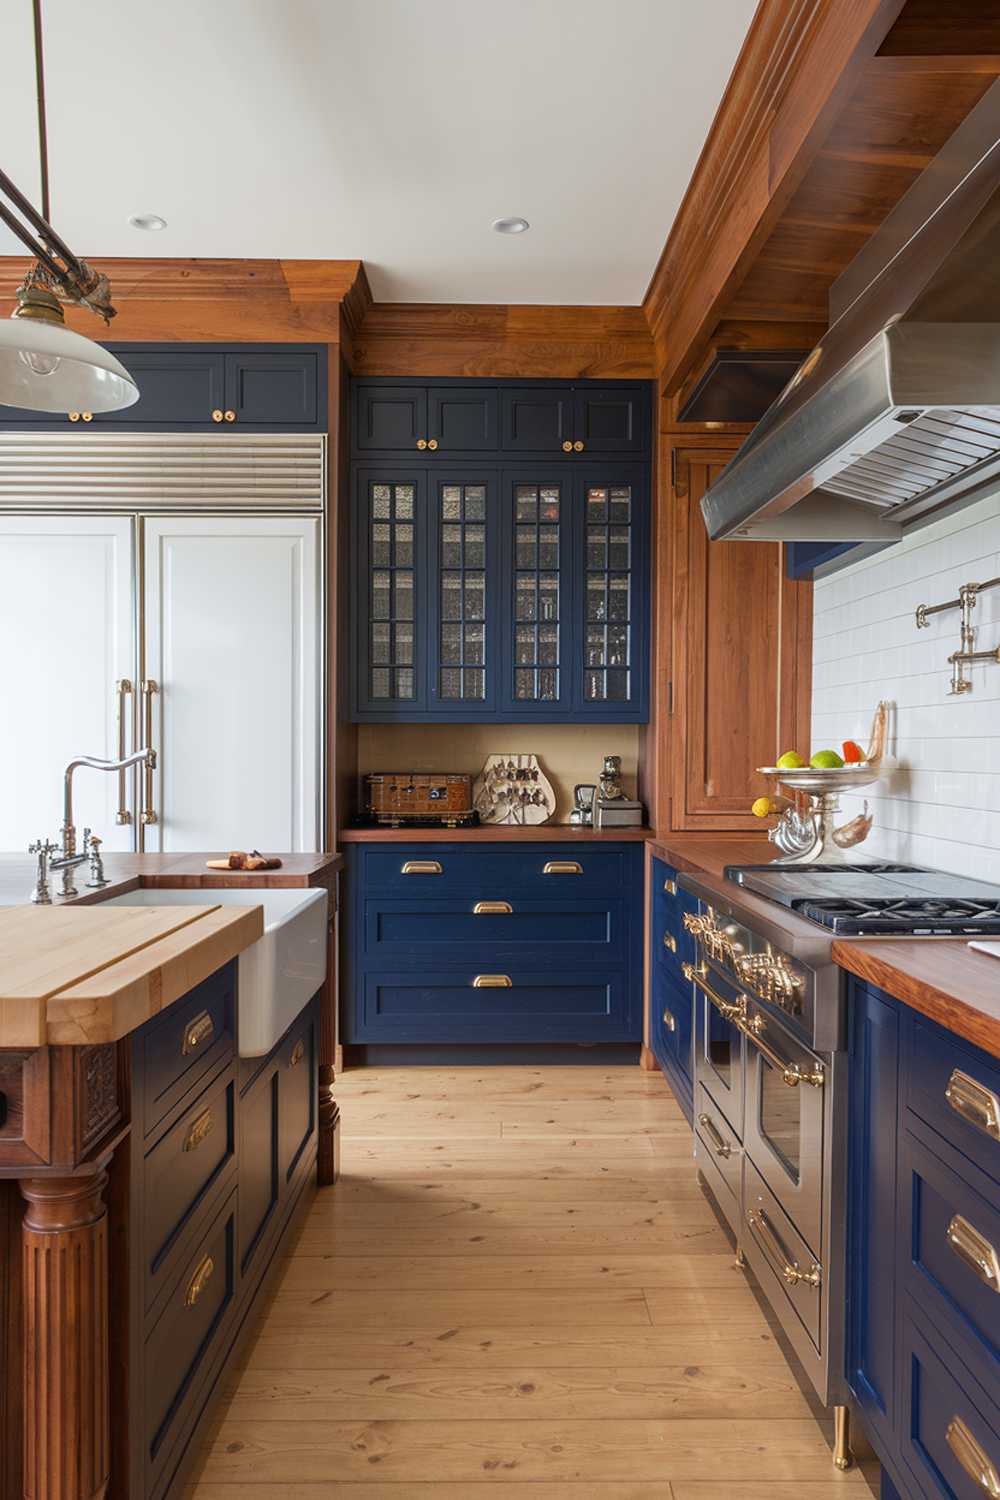
<svg viewBox="0 0 1000 1500">
<path fill-rule="evenodd" d="M 643 298 L 664 393 L 703 356 L 901 9 L 903 0 L 762 0 Z M 816 296 L 796 296 L 786 315 L 814 320 Z"/>
</svg>

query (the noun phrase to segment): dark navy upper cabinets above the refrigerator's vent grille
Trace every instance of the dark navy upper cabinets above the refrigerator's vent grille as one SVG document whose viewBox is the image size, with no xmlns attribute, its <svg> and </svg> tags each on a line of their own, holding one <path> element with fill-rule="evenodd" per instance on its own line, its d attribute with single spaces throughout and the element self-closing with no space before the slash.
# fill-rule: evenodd
<svg viewBox="0 0 1000 1500">
<path fill-rule="evenodd" d="M 135 375 L 139 399 L 123 411 L 22 411 L 0 406 L 0 429 L 96 428 L 187 432 L 325 432 L 322 344 L 106 344 Z"/>
</svg>

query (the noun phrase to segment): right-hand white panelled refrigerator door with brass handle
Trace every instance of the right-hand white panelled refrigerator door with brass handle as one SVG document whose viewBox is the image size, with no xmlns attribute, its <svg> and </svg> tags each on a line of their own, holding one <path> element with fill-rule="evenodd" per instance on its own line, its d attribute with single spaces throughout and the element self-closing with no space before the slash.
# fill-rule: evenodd
<svg viewBox="0 0 1000 1500">
<path fill-rule="evenodd" d="M 145 518 L 142 548 L 144 848 L 318 849 L 319 520 Z"/>
</svg>

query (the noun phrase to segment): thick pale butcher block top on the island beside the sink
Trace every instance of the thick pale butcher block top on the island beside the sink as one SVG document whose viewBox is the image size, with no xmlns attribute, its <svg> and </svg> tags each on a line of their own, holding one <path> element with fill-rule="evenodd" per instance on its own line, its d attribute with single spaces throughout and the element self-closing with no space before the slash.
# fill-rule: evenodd
<svg viewBox="0 0 1000 1500">
<path fill-rule="evenodd" d="M 118 1041 L 262 936 L 252 902 L 0 909 L 0 1047 Z"/>
</svg>

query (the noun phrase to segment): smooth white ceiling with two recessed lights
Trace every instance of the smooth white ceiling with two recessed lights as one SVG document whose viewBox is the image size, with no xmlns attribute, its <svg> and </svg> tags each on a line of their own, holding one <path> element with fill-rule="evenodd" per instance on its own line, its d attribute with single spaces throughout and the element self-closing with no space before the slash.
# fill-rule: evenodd
<svg viewBox="0 0 1000 1500">
<path fill-rule="evenodd" d="M 42 4 L 52 222 L 78 254 L 360 256 L 379 300 L 514 303 L 642 302 L 756 9 Z M 36 196 L 30 0 L 0 0 L 0 166 Z M 505 214 L 531 231 L 493 234 Z"/>
</svg>

